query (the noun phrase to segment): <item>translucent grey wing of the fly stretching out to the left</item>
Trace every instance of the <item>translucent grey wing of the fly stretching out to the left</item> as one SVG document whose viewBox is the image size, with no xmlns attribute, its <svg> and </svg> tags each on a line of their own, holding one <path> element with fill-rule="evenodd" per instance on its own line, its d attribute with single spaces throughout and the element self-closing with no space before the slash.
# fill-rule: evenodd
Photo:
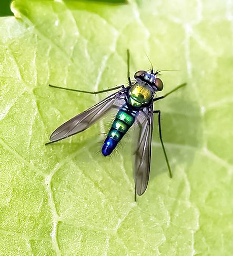
<svg viewBox="0 0 233 256">
<path fill-rule="evenodd" d="M 74 116 L 72 119 L 59 126 L 51 134 L 49 140 L 51 142 L 62 140 L 68 136 L 86 130 L 103 117 L 112 107 L 123 105 L 125 103 L 126 92 L 127 88 L 123 88 L 84 112 Z"/>
</svg>

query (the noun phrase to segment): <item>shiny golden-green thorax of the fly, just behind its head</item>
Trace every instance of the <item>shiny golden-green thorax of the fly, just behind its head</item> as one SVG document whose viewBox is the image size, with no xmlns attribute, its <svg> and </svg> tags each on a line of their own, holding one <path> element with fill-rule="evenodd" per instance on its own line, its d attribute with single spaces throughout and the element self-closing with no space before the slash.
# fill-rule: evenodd
<svg viewBox="0 0 233 256">
<path fill-rule="evenodd" d="M 132 106 L 140 107 L 150 102 L 154 90 L 146 83 L 136 82 L 129 90 L 129 103 Z"/>
</svg>

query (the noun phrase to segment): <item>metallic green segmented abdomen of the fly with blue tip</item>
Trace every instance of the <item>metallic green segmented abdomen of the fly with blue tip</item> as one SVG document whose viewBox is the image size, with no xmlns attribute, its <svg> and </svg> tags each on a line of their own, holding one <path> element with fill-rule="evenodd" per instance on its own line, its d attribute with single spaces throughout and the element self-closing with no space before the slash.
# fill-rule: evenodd
<svg viewBox="0 0 233 256">
<path fill-rule="evenodd" d="M 135 113 L 130 112 L 127 107 L 122 107 L 118 111 L 102 147 L 102 154 L 104 156 L 110 155 L 113 152 L 118 142 L 133 125 L 134 121 Z"/>
</svg>

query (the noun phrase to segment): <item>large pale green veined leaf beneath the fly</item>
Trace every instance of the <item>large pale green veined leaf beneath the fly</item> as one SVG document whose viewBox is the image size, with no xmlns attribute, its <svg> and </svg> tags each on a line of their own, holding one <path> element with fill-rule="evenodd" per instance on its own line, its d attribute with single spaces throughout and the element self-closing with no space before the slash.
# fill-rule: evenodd
<svg viewBox="0 0 233 256">
<path fill-rule="evenodd" d="M 16 0 L 0 19 L 0 254 L 230 255 L 232 231 L 232 5 L 123 5 Z M 180 11 L 181 10 L 181 11 Z M 107 117 L 45 146 L 63 122 L 151 62 L 167 93 L 156 103 L 151 175 L 134 202 L 130 139 L 106 159 Z M 132 132 L 129 137 L 133 137 Z"/>
</svg>

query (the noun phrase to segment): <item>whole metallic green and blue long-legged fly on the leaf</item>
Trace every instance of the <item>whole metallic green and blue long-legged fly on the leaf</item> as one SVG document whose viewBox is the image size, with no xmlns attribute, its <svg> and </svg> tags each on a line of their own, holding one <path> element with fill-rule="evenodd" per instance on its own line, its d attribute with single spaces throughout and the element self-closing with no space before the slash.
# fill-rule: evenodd
<svg viewBox="0 0 233 256">
<path fill-rule="evenodd" d="M 130 127 L 133 124 L 138 126 L 138 133 L 135 137 L 135 141 L 137 143 L 135 143 L 136 146 L 134 149 L 134 182 L 136 201 L 136 194 L 143 195 L 147 189 L 149 181 L 154 114 L 158 114 L 160 142 L 163 147 L 170 178 L 172 177 L 171 168 L 162 139 L 161 112 L 160 110 L 154 110 L 153 105 L 155 101 L 164 99 L 169 94 L 185 86 L 186 83 L 180 84 L 164 96 L 156 97 L 155 93 L 157 91 L 162 91 L 164 88 L 163 82 L 157 77 L 161 71 L 154 72 L 153 66 L 151 65 L 150 71 L 137 71 L 134 75 L 135 81 L 131 82 L 129 75 L 129 60 L 129 50 L 127 50 L 127 74 L 129 82 L 127 87 L 120 85 L 103 91 L 89 92 L 49 85 L 51 87 L 68 91 L 89 94 L 99 94 L 117 89 L 120 90 L 109 95 L 106 99 L 100 101 L 96 105 L 74 116 L 72 119 L 59 126 L 50 135 L 50 142 L 46 144 L 54 143 L 76 133 L 83 132 L 88 127 L 99 121 L 111 109 L 117 109 L 118 113 L 103 143 L 102 154 L 104 156 L 110 155 Z"/>
</svg>

